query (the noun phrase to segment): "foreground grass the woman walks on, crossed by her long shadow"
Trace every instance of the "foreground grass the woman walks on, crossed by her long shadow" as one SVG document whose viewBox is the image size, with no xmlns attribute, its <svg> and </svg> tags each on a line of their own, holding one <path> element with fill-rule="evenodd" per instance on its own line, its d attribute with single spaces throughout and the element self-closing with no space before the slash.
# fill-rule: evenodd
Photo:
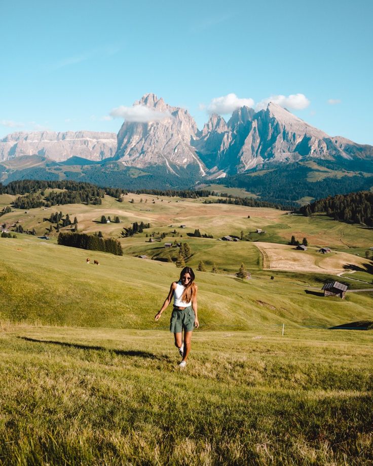
<svg viewBox="0 0 373 466">
<path fill-rule="evenodd" d="M 2 330 L 3 464 L 373 460 L 368 332 Z"/>
</svg>

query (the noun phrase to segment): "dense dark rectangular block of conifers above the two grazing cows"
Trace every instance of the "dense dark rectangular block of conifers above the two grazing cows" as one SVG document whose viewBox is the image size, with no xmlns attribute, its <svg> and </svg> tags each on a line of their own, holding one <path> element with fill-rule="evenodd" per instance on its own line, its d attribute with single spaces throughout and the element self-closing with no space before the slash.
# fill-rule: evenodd
<svg viewBox="0 0 373 466">
<path fill-rule="evenodd" d="M 61 232 L 58 235 L 57 243 L 62 246 L 109 252 L 117 256 L 123 255 L 122 246 L 118 240 L 112 238 L 105 239 L 99 237 L 97 234 L 87 235 L 86 233 Z"/>
</svg>

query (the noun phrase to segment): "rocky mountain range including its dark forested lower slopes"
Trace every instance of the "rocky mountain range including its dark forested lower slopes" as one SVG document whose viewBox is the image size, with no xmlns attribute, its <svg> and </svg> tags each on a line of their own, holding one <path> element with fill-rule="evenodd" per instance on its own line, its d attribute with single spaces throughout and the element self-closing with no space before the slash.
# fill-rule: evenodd
<svg viewBox="0 0 373 466">
<path fill-rule="evenodd" d="M 202 130 L 188 110 L 155 94 L 144 95 L 131 110 L 117 135 L 48 131 L 6 136 L 0 140 L 0 181 L 66 178 L 129 189 L 218 182 L 272 201 L 373 185 L 373 146 L 331 137 L 273 102 L 259 111 L 237 108 L 228 122 L 211 114 Z M 333 183 L 322 184 L 326 177 Z M 297 180 L 302 188 L 283 197 Z M 316 189 L 315 181 L 321 183 Z"/>
</svg>

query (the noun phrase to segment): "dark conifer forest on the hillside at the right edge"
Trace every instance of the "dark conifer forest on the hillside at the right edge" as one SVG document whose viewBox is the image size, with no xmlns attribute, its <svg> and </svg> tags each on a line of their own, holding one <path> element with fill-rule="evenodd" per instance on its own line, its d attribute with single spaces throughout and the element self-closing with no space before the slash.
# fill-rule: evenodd
<svg viewBox="0 0 373 466">
<path fill-rule="evenodd" d="M 373 226 L 373 192 L 329 196 L 301 207 L 300 211 L 306 217 L 316 212 L 325 212 L 334 220 Z"/>
</svg>

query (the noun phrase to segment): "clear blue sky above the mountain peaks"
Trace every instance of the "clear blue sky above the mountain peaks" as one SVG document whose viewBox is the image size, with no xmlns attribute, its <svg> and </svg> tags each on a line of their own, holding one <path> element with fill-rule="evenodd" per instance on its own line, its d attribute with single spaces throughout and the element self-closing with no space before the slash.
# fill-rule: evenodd
<svg viewBox="0 0 373 466">
<path fill-rule="evenodd" d="M 117 133 L 110 110 L 153 92 L 199 128 L 218 98 L 272 96 L 331 136 L 373 144 L 370 0 L 0 5 L 0 137 Z"/>
</svg>

